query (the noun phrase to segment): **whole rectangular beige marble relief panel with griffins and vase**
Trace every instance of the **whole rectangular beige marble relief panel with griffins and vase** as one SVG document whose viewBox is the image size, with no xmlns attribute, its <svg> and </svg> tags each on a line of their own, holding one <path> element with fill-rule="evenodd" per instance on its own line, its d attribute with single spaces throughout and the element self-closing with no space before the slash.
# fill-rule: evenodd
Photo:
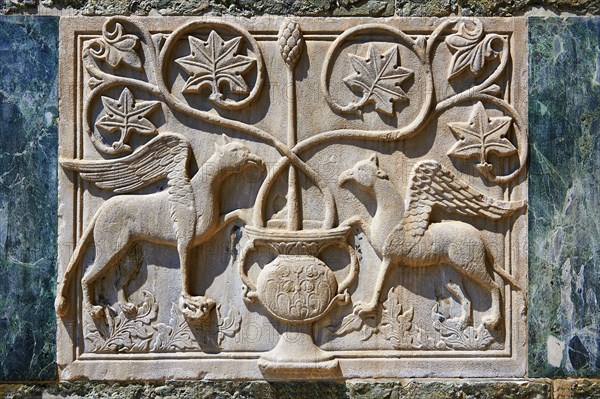
<svg viewBox="0 0 600 399">
<path fill-rule="evenodd" d="M 523 376 L 525 34 L 63 18 L 61 378 Z"/>
</svg>

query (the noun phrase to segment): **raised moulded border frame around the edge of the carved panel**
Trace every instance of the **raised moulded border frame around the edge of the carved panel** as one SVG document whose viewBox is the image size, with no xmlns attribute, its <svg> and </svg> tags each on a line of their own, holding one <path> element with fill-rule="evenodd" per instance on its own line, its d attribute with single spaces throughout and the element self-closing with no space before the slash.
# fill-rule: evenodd
<svg viewBox="0 0 600 399">
<path fill-rule="evenodd" d="M 148 17 L 133 18 L 143 22 L 150 31 L 172 31 L 189 17 Z M 203 18 L 195 18 L 202 20 Z M 283 17 L 236 18 L 222 17 L 224 21 L 238 23 L 252 31 L 259 31 L 258 41 L 277 36 Z M 526 18 L 480 18 L 486 29 L 509 36 L 512 57 L 512 79 L 518 80 L 521 87 L 527 87 L 527 25 Z M 101 32 L 106 18 L 62 17 L 60 21 L 60 74 L 59 74 L 59 156 L 76 158 L 82 154 L 82 61 L 81 43 L 86 35 Z M 430 32 L 439 24 L 436 18 L 327 18 L 325 29 L 319 28 L 321 18 L 297 18 L 305 32 L 307 41 L 318 36 L 336 35 L 358 23 L 386 23 L 394 21 L 402 25 L 407 33 Z M 85 27 L 85 28 L 84 28 Z M 519 47 L 520 56 L 515 54 Z M 510 98 L 520 112 L 527 126 L 527 98 L 519 94 L 519 88 L 511 84 Z M 526 93 L 526 90 L 521 90 Z M 73 134 L 75 132 L 75 134 Z M 59 175 L 59 235 L 58 273 L 62 274 L 73 252 L 75 243 L 84 227 L 82 206 L 82 185 L 78 178 L 71 181 L 60 168 Z M 72 204 L 69 205 L 69 204 Z M 526 221 L 521 226 L 520 237 L 511 237 L 505 243 L 509 249 L 509 262 L 513 269 L 518 266 L 516 278 L 522 287 L 527 287 L 527 237 Z M 518 244 L 518 245 L 517 245 Z M 508 270 L 513 272 L 514 270 Z M 525 288 L 526 289 L 526 288 Z M 81 293 L 72 292 L 79 306 Z M 379 351 L 373 356 L 364 356 L 360 351 L 335 352 L 340 362 L 342 378 L 397 378 L 397 377 L 523 377 L 526 372 L 526 308 L 510 289 L 504 291 L 503 311 L 506 317 L 506 350 L 478 353 L 478 357 L 464 352 L 423 352 Z M 77 310 L 77 314 L 80 314 Z M 260 380 L 265 377 L 257 367 L 257 359 L 262 352 L 236 352 L 222 354 L 204 353 L 148 353 L 148 354 L 82 354 L 81 343 L 77 341 L 77 320 L 58 318 L 57 363 L 61 380 L 166 380 L 166 379 L 207 379 L 220 380 L 232 377 L 241 380 Z M 72 339 L 75 337 L 75 339 Z M 119 366 L 115 368 L 114 366 Z M 123 370 L 127 370 L 124 373 Z M 304 377 L 308 378 L 308 377 Z M 319 379 L 318 375 L 310 378 Z M 330 378 L 330 377 L 327 377 Z"/>
</svg>

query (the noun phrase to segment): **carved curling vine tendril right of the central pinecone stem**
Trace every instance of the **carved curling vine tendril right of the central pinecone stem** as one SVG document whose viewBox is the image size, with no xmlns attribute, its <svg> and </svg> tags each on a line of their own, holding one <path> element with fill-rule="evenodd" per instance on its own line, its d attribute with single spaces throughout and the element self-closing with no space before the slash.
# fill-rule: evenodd
<svg viewBox="0 0 600 399">
<path fill-rule="evenodd" d="M 349 104 L 347 106 L 339 105 L 335 102 L 329 92 L 329 76 L 332 69 L 332 64 L 334 62 L 334 54 L 338 52 L 340 46 L 354 35 L 384 33 L 392 36 L 400 44 L 413 51 L 421 62 L 423 69 L 422 73 L 424 73 L 424 87 L 421 88 L 421 91 L 425 93 L 425 98 L 421 104 L 419 113 L 409 123 L 404 123 L 402 127 L 397 129 L 381 131 L 338 129 L 319 133 L 299 143 L 294 147 L 294 151 L 298 154 L 302 154 L 303 152 L 314 148 L 317 145 L 323 145 L 327 142 L 339 140 L 377 139 L 384 141 L 398 141 L 410 138 L 421 131 L 423 127 L 425 127 L 430 121 L 439 117 L 446 110 L 465 102 L 484 101 L 487 103 L 492 103 L 508 116 L 513 118 L 513 127 L 515 130 L 517 149 L 519 153 L 519 167 L 514 172 L 504 176 L 494 175 L 493 168 L 490 167 L 479 168 L 480 173 L 484 178 L 494 183 L 507 183 L 513 180 L 525 169 L 528 151 L 525 140 L 525 126 L 523 125 L 520 116 L 506 100 L 497 97 L 500 94 L 500 87 L 495 82 L 502 76 L 503 73 L 505 73 L 506 67 L 509 63 L 509 43 L 507 38 L 497 34 L 488 34 L 484 36 L 481 22 L 478 20 L 474 21 L 474 25 L 466 25 L 464 21 L 456 19 L 446 20 L 433 31 L 426 41 L 420 40 L 419 38 L 412 39 L 403 32 L 382 24 L 361 25 L 345 31 L 330 46 L 321 72 L 321 89 L 329 106 L 335 112 L 356 112 L 356 107 L 354 106 L 355 104 Z M 463 58 L 466 60 L 460 61 L 459 64 L 457 64 L 460 68 L 458 68 L 456 71 L 456 75 L 458 75 L 458 73 L 462 73 L 465 68 L 471 68 L 471 65 L 474 71 L 477 74 L 480 74 L 483 71 L 482 63 L 485 62 L 485 60 L 499 58 L 500 61 L 491 74 L 480 84 L 463 92 L 456 93 L 449 98 L 443 99 L 437 104 L 433 104 L 433 99 L 435 98 L 433 75 L 431 73 L 431 62 L 433 56 L 435 55 L 433 49 L 436 42 L 439 40 L 440 35 L 446 31 L 450 25 L 456 24 L 459 24 L 458 32 L 448 36 L 449 38 L 453 38 L 449 39 L 449 41 L 452 46 L 456 47 L 456 49 L 454 49 L 454 58 L 456 60 L 462 60 Z M 461 36 L 463 37 L 461 38 Z M 481 43 L 479 41 L 481 41 Z M 462 50 L 460 55 L 458 54 L 459 50 Z M 450 68 L 452 70 L 453 66 L 451 65 Z M 280 161 L 280 163 L 275 166 L 274 173 L 269 175 L 269 177 L 274 178 L 278 175 L 278 173 L 280 173 L 279 168 L 285 168 L 286 166 L 287 162 L 285 160 Z M 272 182 L 266 184 L 271 185 Z"/>
</svg>

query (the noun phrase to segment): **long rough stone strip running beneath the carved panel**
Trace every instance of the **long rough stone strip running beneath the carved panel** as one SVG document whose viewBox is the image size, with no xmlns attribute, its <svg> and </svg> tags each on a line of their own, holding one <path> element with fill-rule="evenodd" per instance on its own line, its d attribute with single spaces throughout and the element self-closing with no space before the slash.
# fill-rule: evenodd
<svg viewBox="0 0 600 399">
<path fill-rule="evenodd" d="M 43 395 L 43 396 L 42 396 Z M 0 385 L 0 396 L 10 399 L 54 398 L 178 398 L 178 399 L 550 399 L 544 382 L 169 382 L 57 385 Z M 566 399 L 561 397 L 560 399 Z M 578 397 L 575 397 L 578 398 Z M 589 399 L 594 399 L 590 396 Z"/>
</svg>

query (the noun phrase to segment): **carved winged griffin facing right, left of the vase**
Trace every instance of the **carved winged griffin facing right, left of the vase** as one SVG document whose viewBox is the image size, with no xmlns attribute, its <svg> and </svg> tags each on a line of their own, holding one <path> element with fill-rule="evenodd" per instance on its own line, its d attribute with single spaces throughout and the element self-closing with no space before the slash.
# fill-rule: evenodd
<svg viewBox="0 0 600 399">
<path fill-rule="evenodd" d="M 214 154 L 190 179 L 192 150 L 188 140 L 179 134 L 163 133 L 138 148 L 131 155 L 114 160 L 65 160 L 65 169 L 79 172 L 84 180 L 97 187 L 128 194 L 166 178 L 167 190 L 143 195 L 117 195 L 102 204 L 79 240 L 62 281 L 59 283 L 56 312 L 64 316 L 68 310 L 69 285 L 89 244 L 94 242 L 96 256 L 82 278 L 83 306 L 92 317 L 100 318 L 104 308 L 94 304 L 93 284 L 116 266 L 136 242 L 176 246 L 183 274 L 180 307 L 188 321 L 200 321 L 214 307 L 212 299 L 190 295 L 188 270 L 190 252 L 214 235 L 221 220 L 218 192 L 223 180 L 252 166 L 263 166 L 262 160 L 243 144 L 223 135 L 223 144 L 215 144 Z M 220 224 L 219 222 L 222 222 Z M 135 309 L 123 290 L 121 306 Z"/>
</svg>

